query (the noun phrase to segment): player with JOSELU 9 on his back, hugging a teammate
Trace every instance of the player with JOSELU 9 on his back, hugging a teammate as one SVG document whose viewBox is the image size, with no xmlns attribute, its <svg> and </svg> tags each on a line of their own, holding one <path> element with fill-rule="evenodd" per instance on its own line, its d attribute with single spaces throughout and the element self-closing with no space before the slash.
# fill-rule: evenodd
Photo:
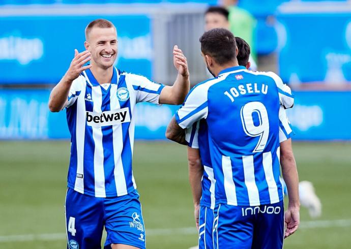
<svg viewBox="0 0 351 249">
<path fill-rule="evenodd" d="M 293 97 L 276 74 L 254 73 L 238 65 L 235 38 L 228 30 L 211 29 L 200 42 L 204 61 L 216 78 L 190 91 L 166 136 L 185 144 L 183 129 L 206 120 L 216 179 L 215 248 L 281 248 L 283 237 L 299 225 L 291 140 L 279 144 L 280 104 L 291 107 Z M 285 234 L 279 159 L 289 192 Z"/>
</svg>

